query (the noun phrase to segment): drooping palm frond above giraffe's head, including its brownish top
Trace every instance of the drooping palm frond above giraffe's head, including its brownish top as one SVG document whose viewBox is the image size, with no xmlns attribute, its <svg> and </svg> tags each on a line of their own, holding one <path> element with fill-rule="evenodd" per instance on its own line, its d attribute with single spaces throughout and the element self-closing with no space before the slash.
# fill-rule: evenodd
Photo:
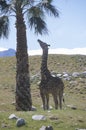
<svg viewBox="0 0 86 130">
<path fill-rule="evenodd" d="M 48 33 L 46 23 L 44 22 L 44 12 L 37 6 L 32 6 L 28 13 L 28 23 L 30 29 L 34 28 L 36 34 Z"/>
</svg>

